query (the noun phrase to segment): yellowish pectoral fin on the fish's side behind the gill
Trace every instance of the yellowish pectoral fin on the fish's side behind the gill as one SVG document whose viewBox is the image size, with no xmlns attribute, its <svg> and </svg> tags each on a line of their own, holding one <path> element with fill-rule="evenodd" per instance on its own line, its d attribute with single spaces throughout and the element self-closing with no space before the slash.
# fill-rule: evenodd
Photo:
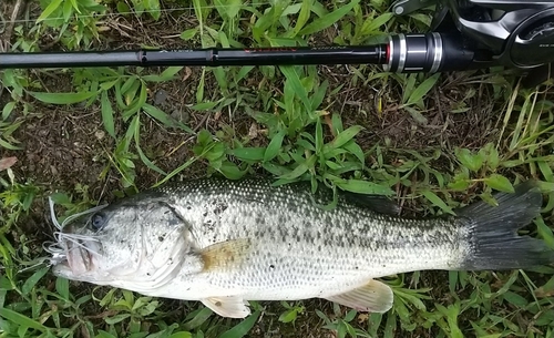
<svg viewBox="0 0 554 338">
<path fill-rule="evenodd" d="M 250 253 L 249 239 L 232 239 L 216 243 L 199 252 L 204 272 L 239 266 Z"/>
</svg>

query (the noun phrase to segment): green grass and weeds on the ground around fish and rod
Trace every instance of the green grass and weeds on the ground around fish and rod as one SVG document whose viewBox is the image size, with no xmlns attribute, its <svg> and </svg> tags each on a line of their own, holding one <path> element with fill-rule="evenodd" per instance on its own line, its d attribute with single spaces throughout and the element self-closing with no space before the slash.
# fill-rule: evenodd
<svg viewBox="0 0 554 338">
<path fill-rule="evenodd" d="M 13 4 L 0 4 L 4 18 Z M 430 23 L 429 12 L 396 18 L 388 6 L 42 0 L 9 38 L 18 51 L 363 44 Z M 171 180 L 254 172 L 391 195 L 418 216 L 532 177 L 546 203 L 526 232 L 554 248 L 550 83 L 373 65 L 4 70 L 0 80 L 0 337 L 554 336 L 552 267 L 390 276 L 384 315 L 306 300 L 255 303 L 229 320 L 197 303 L 57 279 L 39 258 L 49 196 L 70 215 Z"/>
</svg>

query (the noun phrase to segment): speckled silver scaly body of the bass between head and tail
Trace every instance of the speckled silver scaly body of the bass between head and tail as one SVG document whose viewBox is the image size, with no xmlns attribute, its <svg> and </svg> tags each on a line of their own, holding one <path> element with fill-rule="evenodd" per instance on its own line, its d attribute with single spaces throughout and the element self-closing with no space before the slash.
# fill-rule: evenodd
<svg viewBox="0 0 554 338">
<path fill-rule="evenodd" d="M 191 194 L 195 196 L 191 199 L 179 197 L 191 188 L 203 193 Z M 325 213 L 314 206 L 306 188 L 283 186 L 267 194 L 269 188 L 269 182 L 264 181 L 244 181 L 238 185 L 228 181 L 213 181 L 211 184 L 201 183 L 197 187 L 183 185 L 163 190 L 174 201 L 174 205 L 182 205 L 182 208 L 192 205 L 192 211 L 196 209 L 189 216 L 185 213 L 182 215 L 191 224 L 193 233 L 205 232 L 206 221 L 209 219 L 209 224 L 220 224 L 212 243 L 255 238 L 256 250 L 248 256 L 244 266 L 214 274 L 209 278 L 214 285 L 222 288 L 247 287 L 247 297 L 265 299 L 281 297 L 281 291 L 294 293 L 297 289 L 315 297 L 334 294 L 347 283 L 335 274 L 347 276 L 358 285 L 375 276 L 392 275 L 411 268 L 411 260 L 419 265 L 433 264 L 438 268 L 453 264 L 448 260 L 452 253 L 447 250 L 450 247 L 443 245 L 459 239 L 458 232 L 452 227 L 435 223 L 434 227 L 422 224 L 420 227 L 399 228 L 396 218 L 376 215 L 370 209 L 345 206 L 343 201 L 332 214 Z M 224 197 L 228 201 L 227 208 L 217 215 L 217 219 L 213 219 L 214 201 Z M 319 195 L 315 199 L 318 204 L 325 204 L 331 197 Z M 207 216 L 198 219 L 198 214 Z M 258 218 L 265 222 L 260 224 Z M 371 223 L 367 219 L 371 219 Z M 428 232 L 422 233 L 421 228 L 428 228 Z M 410 245 L 404 238 L 414 238 L 412 242 L 417 246 Z M 212 243 L 201 240 L 198 246 L 202 248 Z M 443 249 L 430 250 L 431 247 Z M 381 257 L 386 257 L 387 262 Z M 451 259 L 455 263 L 458 257 Z M 268 289 L 279 293 L 270 290 L 266 295 Z"/>
</svg>

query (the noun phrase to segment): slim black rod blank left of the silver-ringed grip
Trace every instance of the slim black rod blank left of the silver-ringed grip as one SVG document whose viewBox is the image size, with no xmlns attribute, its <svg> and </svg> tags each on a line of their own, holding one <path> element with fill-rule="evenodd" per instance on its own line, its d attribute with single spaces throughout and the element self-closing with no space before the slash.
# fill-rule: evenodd
<svg viewBox="0 0 554 338">
<path fill-rule="evenodd" d="M 376 44 L 363 47 L 0 53 L 0 69 L 119 65 L 386 64 L 388 62 L 387 47 L 387 44 Z"/>
</svg>

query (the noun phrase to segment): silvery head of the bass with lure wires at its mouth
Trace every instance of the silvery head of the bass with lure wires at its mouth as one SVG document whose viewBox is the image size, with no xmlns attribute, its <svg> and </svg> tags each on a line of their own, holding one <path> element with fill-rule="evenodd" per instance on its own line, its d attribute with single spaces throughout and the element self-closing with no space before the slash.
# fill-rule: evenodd
<svg viewBox="0 0 554 338">
<path fill-rule="evenodd" d="M 181 257 L 191 252 L 194 238 L 167 202 L 130 198 L 71 223 L 58 233 L 58 246 L 64 260 L 54 265 L 57 276 L 152 288 L 178 273 Z"/>
</svg>

